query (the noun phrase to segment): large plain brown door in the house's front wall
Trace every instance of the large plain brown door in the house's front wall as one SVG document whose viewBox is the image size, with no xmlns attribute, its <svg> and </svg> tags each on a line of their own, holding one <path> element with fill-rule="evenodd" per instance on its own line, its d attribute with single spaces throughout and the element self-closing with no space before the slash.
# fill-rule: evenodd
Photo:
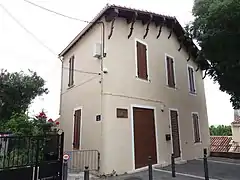
<svg viewBox="0 0 240 180">
<path fill-rule="evenodd" d="M 148 165 L 148 157 L 157 164 L 154 110 L 133 108 L 135 168 Z"/>
</svg>

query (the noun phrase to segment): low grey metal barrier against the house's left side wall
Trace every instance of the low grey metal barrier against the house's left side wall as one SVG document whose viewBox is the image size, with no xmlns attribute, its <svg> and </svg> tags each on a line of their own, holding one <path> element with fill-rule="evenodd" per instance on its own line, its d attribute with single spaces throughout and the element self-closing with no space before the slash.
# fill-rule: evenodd
<svg viewBox="0 0 240 180">
<path fill-rule="evenodd" d="M 68 171 L 70 173 L 83 172 L 85 167 L 89 171 L 98 171 L 100 162 L 100 153 L 98 150 L 73 150 L 66 151 L 70 156 L 68 160 Z"/>
</svg>

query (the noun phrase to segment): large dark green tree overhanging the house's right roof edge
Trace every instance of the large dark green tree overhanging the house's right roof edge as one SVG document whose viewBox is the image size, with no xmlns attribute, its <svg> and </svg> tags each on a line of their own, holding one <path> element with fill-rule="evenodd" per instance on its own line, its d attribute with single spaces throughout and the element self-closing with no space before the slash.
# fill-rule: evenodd
<svg viewBox="0 0 240 180">
<path fill-rule="evenodd" d="M 194 0 L 194 21 L 186 30 L 201 47 L 199 60 L 207 59 L 206 74 L 228 93 L 240 108 L 240 1 Z"/>
</svg>

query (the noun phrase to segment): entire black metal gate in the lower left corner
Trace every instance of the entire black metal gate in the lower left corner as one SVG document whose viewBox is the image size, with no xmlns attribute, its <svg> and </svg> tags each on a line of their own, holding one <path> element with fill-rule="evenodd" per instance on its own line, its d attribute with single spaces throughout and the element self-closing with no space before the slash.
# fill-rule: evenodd
<svg viewBox="0 0 240 180">
<path fill-rule="evenodd" d="M 0 137 L 0 179 L 62 180 L 64 133 Z"/>
</svg>

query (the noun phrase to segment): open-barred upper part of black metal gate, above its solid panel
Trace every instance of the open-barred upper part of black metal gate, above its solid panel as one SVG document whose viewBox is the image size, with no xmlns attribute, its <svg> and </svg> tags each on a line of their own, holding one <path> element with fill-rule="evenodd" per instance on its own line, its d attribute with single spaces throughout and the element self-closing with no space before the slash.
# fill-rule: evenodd
<svg viewBox="0 0 240 180">
<path fill-rule="evenodd" d="M 51 158 L 60 159 L 60 136 L 0 137 L 0 170 L 34 166 Z"/>
</svg>

